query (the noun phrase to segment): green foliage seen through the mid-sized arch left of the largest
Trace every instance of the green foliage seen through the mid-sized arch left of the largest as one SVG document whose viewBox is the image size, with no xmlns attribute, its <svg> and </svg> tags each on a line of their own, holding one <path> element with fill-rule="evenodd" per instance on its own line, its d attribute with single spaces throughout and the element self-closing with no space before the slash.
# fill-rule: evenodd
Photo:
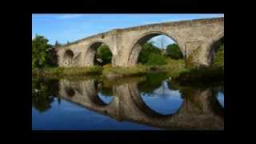
<svg viewBox="0 0 256 144">
<path fill-rule="evenodd" d="M 98 47 L 96 58 L 102 59 L 101 66 L 111 63 L 112 60 L 112 53 L 110 48 L 106 45 L 101 45 Z"/>
</svg>

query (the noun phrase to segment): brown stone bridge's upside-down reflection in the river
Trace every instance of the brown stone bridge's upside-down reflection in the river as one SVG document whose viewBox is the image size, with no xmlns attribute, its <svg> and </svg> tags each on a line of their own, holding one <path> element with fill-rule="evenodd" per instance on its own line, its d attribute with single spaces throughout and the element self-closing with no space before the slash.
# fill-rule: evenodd
<svg viewBox="0 0 256 144">
<path fill-rule="evenodd" d="M 172 86 L 171 82 L 164 82 L 168 83 L 166 86 Z M 139 90 L 140 81 L 106 83 L 94 79 L 60 79 L 58 96 L 118 122 L 136 122 L 170 130 L 224 129 L 224 107 L 218 102 L 218 88 L 197 90 L 179 87 L 180 104 L 171 114 L 161 114 L 146 103 L 145 95 Z M 106 94 L 106 91 L 110 94 Z M 104 94 L 109 96 L 105 97 Z"/>
</svg>

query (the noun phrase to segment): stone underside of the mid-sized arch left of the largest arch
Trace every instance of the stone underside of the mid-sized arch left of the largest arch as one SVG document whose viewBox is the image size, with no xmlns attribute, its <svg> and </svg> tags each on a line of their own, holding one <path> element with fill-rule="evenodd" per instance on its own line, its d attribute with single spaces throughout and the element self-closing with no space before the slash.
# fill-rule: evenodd
<svg viewBox="0 0 256 144">
<path fill-rule="evenodd" d="M 94 66 L 95 65 L 94 58 L 95 58 L 95 55 L 96 55 L 98 47 L 101 46 L 102 44 L 104 44 L 104 45 L 109 47 L 109 50 L 112 53 L 111 63 L 113 63 L 113 50 L 112 50 L 112 46 L 109 45 L 106 42 L 96 41 L 96 42 L 91 42 L 89 44 L 87 50 L 86 50 L 85 57 L 84 57 L 85 58 L 86 66 Z"/>
</svg>

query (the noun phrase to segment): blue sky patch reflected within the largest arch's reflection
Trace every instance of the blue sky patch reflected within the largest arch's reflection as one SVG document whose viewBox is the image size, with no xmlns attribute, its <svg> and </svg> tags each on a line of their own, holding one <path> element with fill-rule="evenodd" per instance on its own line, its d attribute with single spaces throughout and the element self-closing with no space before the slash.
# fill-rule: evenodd
<svg viewBox="0 0 256 144">
<path fill-rule="evenodd" d="M 142 100 L 150 109 L 163 115 L 175 114 L 183 102 L 179 91 L 170 90 L 166 81 L 153 94 L 142 93 Z"/>
</svg>

